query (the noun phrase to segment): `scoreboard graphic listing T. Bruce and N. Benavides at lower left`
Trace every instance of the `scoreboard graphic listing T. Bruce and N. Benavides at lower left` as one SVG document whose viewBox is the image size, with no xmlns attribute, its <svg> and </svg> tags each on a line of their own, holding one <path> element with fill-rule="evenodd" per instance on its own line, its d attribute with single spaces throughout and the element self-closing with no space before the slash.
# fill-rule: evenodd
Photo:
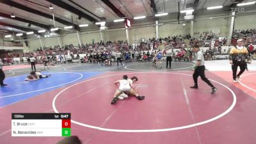
<svg viewBox="0 0 256 144">
<path fill-rule="evenodd" d="M 12 113 L 12 136 L 71 136 L 71 115 Z"/>
</svg>

